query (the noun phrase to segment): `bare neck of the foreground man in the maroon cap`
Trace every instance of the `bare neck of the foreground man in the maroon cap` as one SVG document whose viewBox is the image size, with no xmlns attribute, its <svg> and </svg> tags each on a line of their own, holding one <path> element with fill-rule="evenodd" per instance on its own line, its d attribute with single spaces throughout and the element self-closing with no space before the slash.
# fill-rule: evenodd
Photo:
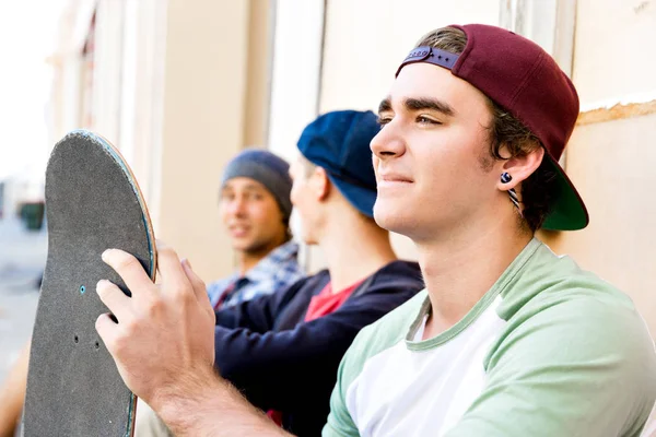
<svg viewBox="0 0 656 437">
<path fill-rule="evenodd" d="M 531 238 L 517 228 L 516 217 L 509 216 L 487 227 L 469 226 L 447 238 L 418 244 L 432 307 L 424 338 L 462 319 Z"/>
</svg>

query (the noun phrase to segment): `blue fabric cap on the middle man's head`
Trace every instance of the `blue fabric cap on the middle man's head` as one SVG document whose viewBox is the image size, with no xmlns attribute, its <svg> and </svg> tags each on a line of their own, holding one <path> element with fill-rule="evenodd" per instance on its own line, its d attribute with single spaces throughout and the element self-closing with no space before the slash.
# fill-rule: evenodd
<svg viewBox="0 0 656 437">
<path fill-rule="evenodd" d="M 379 131 L 371 110 L 338 110 L 319 116 L 298 139 L 303 156 L 324 168 L 347 200 L 368 217 L 376 203 L 370 143 Z"/>
</svg>

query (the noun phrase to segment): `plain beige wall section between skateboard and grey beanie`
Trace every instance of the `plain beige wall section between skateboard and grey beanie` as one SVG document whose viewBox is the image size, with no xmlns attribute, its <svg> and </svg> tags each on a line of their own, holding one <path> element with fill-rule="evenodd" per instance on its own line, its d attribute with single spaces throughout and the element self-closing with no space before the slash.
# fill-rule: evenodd
<svg viewBox="0 0 656 437">
<path fill-rule="evenodd" d="M 169 0 L 156 235 L 206 280 L 231 270 L 216 199 L 243 145 L 248 2 Z"/>
</svg>

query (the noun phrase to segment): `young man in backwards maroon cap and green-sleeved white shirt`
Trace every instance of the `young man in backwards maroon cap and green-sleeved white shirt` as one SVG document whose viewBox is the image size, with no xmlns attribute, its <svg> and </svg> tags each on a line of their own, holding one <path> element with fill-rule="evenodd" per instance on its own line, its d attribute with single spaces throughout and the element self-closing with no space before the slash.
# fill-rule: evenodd
<svg viewBox="0 0 656 437">
<path fill-rule="evenodd" d="M 431 32 L 400 64 L 372 141 L 375 217 L 413 239 L 426 291 L 355 339 L 325 436 L 640 435 L 656 398 L 645 323 L 534 237 L 587 225 L 558 164 L 577 114 L 553 59 L 502 28 Z M 105 253 L 133 298 L 98 292 L 129 328 L 96 324 L 126 383 L 181 436 L 281 434 L 213 374 L 212 314 L 188 262 L 163 249 L 176 312 L 127 259 Z M 131 316 L 143 300 L 161 303 L 157 323 Z M 157 342 L 160 323 L 180 333 Z M 139 345 L 153 341 L 177 354 L 148 359 Z"/>
</svg>

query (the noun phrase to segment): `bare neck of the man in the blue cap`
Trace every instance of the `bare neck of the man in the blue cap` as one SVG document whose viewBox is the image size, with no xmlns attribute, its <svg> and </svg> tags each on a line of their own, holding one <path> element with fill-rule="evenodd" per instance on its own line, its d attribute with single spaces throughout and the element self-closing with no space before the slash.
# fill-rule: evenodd
<svg viewBox="0 0 656 437">
<path fill-rule="evenodd" d="M 397 259 L 389 234 L 373 221 L 355 211 L 343 211 L 336 214 L 336 218 L 327 220 L 332 227 L 326 229 L 319 240 L 333 293 L 364 280 Z"/>
</svg>

